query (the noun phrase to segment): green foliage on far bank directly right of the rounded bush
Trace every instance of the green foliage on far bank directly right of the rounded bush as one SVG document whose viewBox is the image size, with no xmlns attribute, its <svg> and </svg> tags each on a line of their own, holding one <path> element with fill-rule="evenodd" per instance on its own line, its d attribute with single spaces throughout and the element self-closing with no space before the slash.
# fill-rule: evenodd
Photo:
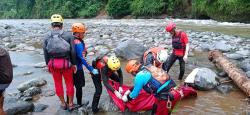
<svg viewBox="0 0 250 115">
<path fill-rule="evenodd" d="M 164 11 L 164 6 L 163 0 L 133 0 L 131 10 L 134 16 L 155 16 Z"/>
</svg>

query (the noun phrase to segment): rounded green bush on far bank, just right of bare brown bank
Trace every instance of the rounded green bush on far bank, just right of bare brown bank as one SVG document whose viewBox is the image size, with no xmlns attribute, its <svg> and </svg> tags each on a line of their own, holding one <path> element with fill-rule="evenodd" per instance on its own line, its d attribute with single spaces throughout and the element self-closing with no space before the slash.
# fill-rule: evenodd
<svg viewBox="0 0 250 115">
<path fill-rule="evenodd" d="M 119 18 L 130 13 L 131 0 L 109 0 L 106 6 L 108 15 Z"/>
</svg>

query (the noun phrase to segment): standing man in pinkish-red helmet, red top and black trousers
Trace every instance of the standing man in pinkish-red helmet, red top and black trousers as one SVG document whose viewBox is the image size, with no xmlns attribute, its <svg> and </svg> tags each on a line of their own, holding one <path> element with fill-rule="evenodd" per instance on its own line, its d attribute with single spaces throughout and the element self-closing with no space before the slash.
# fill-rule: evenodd
<svg viewBox="0 0 250 115">
<path fill-rule="evenodd" d="M 173 51 L 164 68 L 166 68 L 166 71 L 169 72 L 169 69 L 178 59 L 180 64 L 180 74 L 178 80 L 181 81 L 185 73 L 185 63 L 187 62 L 188 58 L 188 50 L 189 50 L 188 37 L 185 32 L 177 30 L 176 24 L 173 22 L 170 22 L 166 26 L 166 31 L 169 32 L 172 36 Z"/>
</svg>

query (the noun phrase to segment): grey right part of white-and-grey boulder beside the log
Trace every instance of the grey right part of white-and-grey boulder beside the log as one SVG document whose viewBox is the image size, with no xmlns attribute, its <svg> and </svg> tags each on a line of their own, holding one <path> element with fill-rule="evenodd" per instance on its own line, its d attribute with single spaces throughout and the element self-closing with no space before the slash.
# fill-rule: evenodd
<svg viewBox="0 0 250 115">
<path fill-rule="evenodd" d="M 195 75 L 194 84 L 199 90 L 213 89 L 218 84 L 216 77 L 216 73 L 211 69 L 199 68 Z"/>
</svg>

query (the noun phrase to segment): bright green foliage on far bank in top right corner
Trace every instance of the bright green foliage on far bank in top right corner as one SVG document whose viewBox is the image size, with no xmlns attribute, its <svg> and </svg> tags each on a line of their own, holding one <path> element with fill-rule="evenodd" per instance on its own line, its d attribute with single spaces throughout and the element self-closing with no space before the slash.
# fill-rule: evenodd
<svg viewBox="0 0 250 115">
<path fill-rule="evenodd" d="M 249 21 L 249 0 L 195 0 L 193 13 L 220 21 Z"/>
</svg>

